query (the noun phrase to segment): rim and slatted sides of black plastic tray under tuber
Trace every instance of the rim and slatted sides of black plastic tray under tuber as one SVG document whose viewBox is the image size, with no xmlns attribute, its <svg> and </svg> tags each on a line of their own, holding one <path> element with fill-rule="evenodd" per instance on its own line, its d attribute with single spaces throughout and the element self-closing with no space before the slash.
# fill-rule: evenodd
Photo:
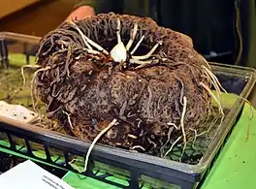
<svg viewBox="0 0 256 189">
<path fill-rule="evenodd" d="M 1 63 L 4 68 L 8 67 L 8 56 L 13 49 L 19 50 L 20 53 L 29 57 L 29 55 L 36 53 L 39 41 L 39 38 L 36 37 L 10 33 L 0 33 L 0 39 L 2 43 L 0 49 L 2 52 L 0 53 Z M 25 50 L 24 47 L 26 47 Z M 255 71 L 253 69 L 214 63 L 211 66 L 214 74 L 228 92 L 240 95 L 242 98 L 248 97 L 255 83 Z M 243 100 L 238 99 L 229 109 L 222 126 L 216 130 L 207 151 L 196 165 L 183 164 L 111 146 L 96 145 L 90 155 L 87 172 L 84 174 L 120 188 L 137 189 L 143 188 L 144 185 L 151 188 L 195 188 L 202 181 L 203 176 L 206 175 L 214 158 L 216 158 L 217 152 L 223 145 L 232 126 L 236 123 L 242 106 Z M 6 140 L 10 143 L 10 145 L 0 144 L 1 147 L 74 172 L 77 170 L 69 165 L 69 162 L 74 158 L 73 155 L 83 157 L 90 145 L 90 143 L 76 138 L 50 132 L 30 124 L 20 124 L 1 116 L 0 134 L 0 140 Z M 20 147 L 20 143 L 17 145 L 16 138 L 23 141 L 23 147 Z M 46 158 L 35 155 L 32 144 L 34 142 L 45 151 Z M 59 157 L 52 158 L 53 155 Z M 98 175 L 98 172 L 105 174 Z M 122 177 L 127 180 L 127 183 L 109 180 L 108 176 L 112 174 Z"/>
</svg>

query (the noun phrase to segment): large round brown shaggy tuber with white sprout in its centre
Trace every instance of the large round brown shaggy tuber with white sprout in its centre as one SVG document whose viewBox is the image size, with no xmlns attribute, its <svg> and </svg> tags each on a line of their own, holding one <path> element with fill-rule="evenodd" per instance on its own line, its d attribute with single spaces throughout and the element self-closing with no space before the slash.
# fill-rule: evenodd
<svg viewBox="0 0 256 189">
<path fill-rule="evenodd" d="M 172 150 L 167 143 L 201 133 L 208 90 L 220 88 L 189 37 L 148 17 L 63 23 L 42 39 L 37 64 L 35 88 L 48 118 L 70 135 L 92 142 L 116 119 L 99 142 L 163 156 Z"/>
</svg>

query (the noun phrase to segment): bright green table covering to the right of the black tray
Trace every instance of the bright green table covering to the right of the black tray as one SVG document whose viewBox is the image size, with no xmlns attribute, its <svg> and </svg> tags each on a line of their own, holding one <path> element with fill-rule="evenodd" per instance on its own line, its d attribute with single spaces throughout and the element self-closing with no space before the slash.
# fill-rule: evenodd
<svg viewBox="0 0 256 189">
<path fill-rule="evenodd" d="M 256 110 L 245 105 L 240 120 L 225 144 L 203 189 L 255 189 Z"/>
</svg>

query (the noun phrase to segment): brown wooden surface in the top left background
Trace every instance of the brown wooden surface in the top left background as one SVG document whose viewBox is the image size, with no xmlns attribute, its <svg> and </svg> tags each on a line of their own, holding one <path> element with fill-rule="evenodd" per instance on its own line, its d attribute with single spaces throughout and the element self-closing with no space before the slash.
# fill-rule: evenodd
<svg viewBox="0 0 256 189">
<path fill-rule="evenodd" d="M 76 0 L 40 0 L 11 16 L 1 18 L 0 31 L 44 36 L 74 10 L 75 2 Z"/>
</svg>

